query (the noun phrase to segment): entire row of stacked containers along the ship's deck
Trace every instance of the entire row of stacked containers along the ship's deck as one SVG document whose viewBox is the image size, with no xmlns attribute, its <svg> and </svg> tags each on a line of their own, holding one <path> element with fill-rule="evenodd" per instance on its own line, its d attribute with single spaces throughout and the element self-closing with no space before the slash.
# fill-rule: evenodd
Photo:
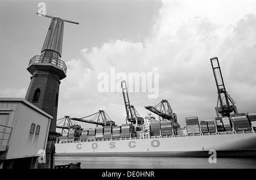
<svg viewBox="0 0 256 180">
<path fill-rule="evenodd" d="M 151 121 L 150 126 L 136 127 L 130 124 L 123 124 L 121 126 L 105 126 L 90 128 L 79 131 L 75 128 L 71 128 L 69 132 L 62 132 L 62 142 L 68 142 L 73 140 L 100 140 L 100 139 L 118 139 L 118 138 L 140 138 L 141 132 L 145 130 L 150 130 L 152 136 L 159 135 L 172 135 L 174 130 L 176 130 L 175 135 L 185 136 L 187 134 L 198 134 L 208 133 L 208 132 L 222 132 L 222 131 L 232 131 L 232 126 L 235 131 L 251 130 L 250 125 L 256 130 L 256 112 L 250 113 L 240 113 L 231 114 L 230 118 L 220 117 L 215 118 L 216 125 L 212 119 L 200 122 L 198 117 L 187 117 L 185 118 L 187 128 L 175 128 L 176 126 L 172 124 L 172 121 Z M 232 122 L 232 126 L 230 125 Z M 180 127 L 180 126 L 179 126 Z M 201 131 L 200 131 L 201 129 Z M 137 132 L 137 134 L 136 134 Z"/>
</svg>

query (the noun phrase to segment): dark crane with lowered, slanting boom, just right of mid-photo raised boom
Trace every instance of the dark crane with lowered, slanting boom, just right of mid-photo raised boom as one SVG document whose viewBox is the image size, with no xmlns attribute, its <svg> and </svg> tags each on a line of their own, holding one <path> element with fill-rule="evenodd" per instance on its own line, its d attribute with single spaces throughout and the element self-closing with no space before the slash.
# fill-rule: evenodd
<svg viewBox="0 0 256 180">
<path fill-rule="evenodd" d="M 152 113 L 158 114 L 159 117 L 162 117 L 163 119 L 171 120 L 177 123 L 177 116 L 173 112 L 168 100 L 162 100 L 155 106 L 145 106 L 145 108 Z"/>
</svg>

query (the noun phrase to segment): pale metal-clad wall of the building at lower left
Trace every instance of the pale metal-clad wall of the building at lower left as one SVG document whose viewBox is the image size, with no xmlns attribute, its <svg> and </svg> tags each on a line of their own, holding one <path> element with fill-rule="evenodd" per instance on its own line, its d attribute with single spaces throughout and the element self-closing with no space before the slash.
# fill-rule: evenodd
<svg viewBox="0 0 256 180">
<path fill-rule="evenodd" d="M 11 111 L 4 111 L 11 109 Z M 6 126 L 13 127 L 7 153 L 0 158 L 39 156 L 38 151 L 46 148 L 50 119 L 24 102 L 1 102 L 0 113 L 9 113 Z M 0 114 L 1 115 L 1 114 Z M 40 126 L 39 134 L 30 133 L 31 124 Z"/>
</svg>

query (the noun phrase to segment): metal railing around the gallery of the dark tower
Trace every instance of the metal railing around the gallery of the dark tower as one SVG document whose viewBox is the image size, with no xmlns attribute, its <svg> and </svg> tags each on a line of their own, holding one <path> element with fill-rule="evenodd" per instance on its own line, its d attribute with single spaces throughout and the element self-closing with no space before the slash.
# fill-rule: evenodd
<svg viewBox="0 0 256 180">
<path fill-rule="evenodd" d="M 65 73 L 67 73 L 67 66 L 65 65 L 64 61 L 61 61 L 60 59 L 57 59 L 52 56 L 35 55 L 30 59 L 28 66 L 31 65 L 32 63 L 50 63 L 63 68 Z"/>
</svg>

